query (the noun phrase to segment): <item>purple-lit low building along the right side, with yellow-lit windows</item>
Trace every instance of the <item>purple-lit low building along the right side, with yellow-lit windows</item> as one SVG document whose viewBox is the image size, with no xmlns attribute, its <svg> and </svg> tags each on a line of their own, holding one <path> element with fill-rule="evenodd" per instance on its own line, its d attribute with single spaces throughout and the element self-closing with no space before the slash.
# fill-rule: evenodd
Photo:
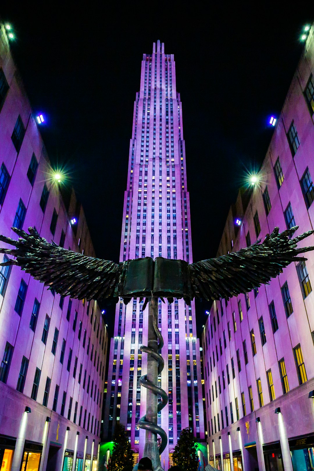
<svg viewBox="0 0 314 471">
<path fill-rule="evenodd" d="M 313 75 L 312 26 L 258 182 L 239 192 L 217 255 L 276 226 L 298 225 L 296 235 L 314 228 Z M 314 236 L 300 244 L 313 245 Z M 207 441 L 220 470 L 313 469 L 314 253 L 307 258 L 209 311 L 202 335 Z"/>
</svg>

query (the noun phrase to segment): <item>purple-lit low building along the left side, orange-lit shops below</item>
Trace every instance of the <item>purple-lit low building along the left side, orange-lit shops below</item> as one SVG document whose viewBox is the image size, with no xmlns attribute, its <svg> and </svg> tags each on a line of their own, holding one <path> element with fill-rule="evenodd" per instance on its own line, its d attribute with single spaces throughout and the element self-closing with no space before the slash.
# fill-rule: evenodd
<svg viewBox="0 0 314 471">
<path fill-rule="evenodd" d="M 63 189 L 0 24 L 0 233 L 32 226 L 94 256 L 81 205 Z M 96 302 L 0 268 L 1 470 L 96 469 L 107 338 Z"/>
</svg>

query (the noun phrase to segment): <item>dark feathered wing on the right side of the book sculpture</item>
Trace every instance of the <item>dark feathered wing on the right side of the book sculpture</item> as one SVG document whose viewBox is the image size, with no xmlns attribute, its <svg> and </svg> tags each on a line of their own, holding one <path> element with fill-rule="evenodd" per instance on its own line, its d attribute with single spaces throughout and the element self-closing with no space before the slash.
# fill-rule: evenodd
<svg viewBox="0 0 314 471">
<path fill-rule="evenodd" d="M 192 263 L 189 269 L 193 296 L 207 300 L 229 299 L 255 286 L 268 284 L 292 261 L 306 260 L 298 254 L 314 250 L 314 246 L 298 248 L 297 243 L 314 231 L 290 239 L 297 229 L 298 226 L 291 227 L 279 234 L 279 228 L 275 227 L 262 244 L 259 240 L 239 252 Z"/>
</svg>

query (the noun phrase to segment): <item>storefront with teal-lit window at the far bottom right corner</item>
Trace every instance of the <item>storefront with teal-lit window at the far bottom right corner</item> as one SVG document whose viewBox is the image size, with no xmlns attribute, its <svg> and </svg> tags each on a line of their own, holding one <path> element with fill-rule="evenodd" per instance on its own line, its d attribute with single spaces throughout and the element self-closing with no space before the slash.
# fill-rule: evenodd
<svg viewBox="0 0 314 471">
<path fill-rule="evenodd" d="M 289 440 L 293 471 L 314 469 L 314 434 Z"/>
</svg>

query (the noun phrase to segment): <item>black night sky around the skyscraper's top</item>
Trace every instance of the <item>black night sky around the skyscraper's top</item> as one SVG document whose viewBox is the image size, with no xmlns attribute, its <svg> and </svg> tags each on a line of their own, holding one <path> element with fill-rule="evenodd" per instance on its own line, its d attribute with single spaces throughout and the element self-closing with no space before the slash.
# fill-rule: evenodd
<svg viewBox="0 0 314 471">
<path fill-rule="evenodd" d="M 150 2 L 128 9 L 123 2 L 116 11 L 106 3 L 74 11 L 53 2 L 49 11 L 47 3 L 18 3 L 2 5 L 0 16 L 14 28 L 26 92 L 47 117 L 49 158 L 70 172 L 97 256 L 119 260 L 141 60 L 158 39 L 176 61 L 193 260 L 215 256 L 246 172 L 265 157 L 268 119 L 281 111 L 314 8 L 286 12 L 269 2 L 260 11 L 226 4 L 205 11 L 156 2 L 153 10 Z"/>
</svg>

